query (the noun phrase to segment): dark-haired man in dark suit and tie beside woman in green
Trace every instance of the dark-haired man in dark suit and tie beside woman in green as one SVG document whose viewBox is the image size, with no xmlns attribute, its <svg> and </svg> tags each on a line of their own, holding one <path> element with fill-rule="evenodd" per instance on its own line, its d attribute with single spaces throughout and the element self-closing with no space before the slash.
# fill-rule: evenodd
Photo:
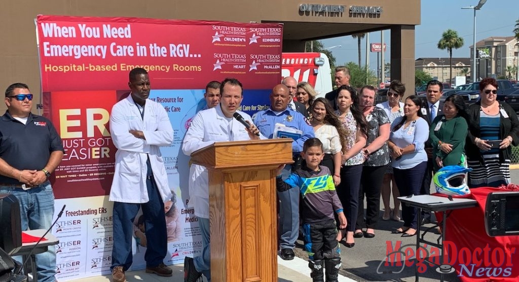
<svg viewBox="0 0 519 282">
<path fill-rule="evenodd" d="M 427 83 L 427 92 L 426 92 L 426 100 L 422 104 L 422 114 L 424 115 L 424 119 L 427 122 L 432 124 L 432 121 L 436 116 L 443 114 L 443 102 L 440 102 L 440 97 L 443 95 L 443 85 L 438 80 L 431 80 Z M 431 128 L 430 130 L 434 130 Z M 421 187 L 420 194 L 430 194 L 431 189 L 431 180 L 433 176 L 433 162 L 434 158 L 432 156 L 432 145 L 431 142 L 427 141 L 425 143 L 425 150 L 428 156 L 427 169 L 425 171 L 424 182 Z M 422 210 L 422 220 L 420 224 L 430 223 L 431 222 L 431 212 Z"/>
</svg>

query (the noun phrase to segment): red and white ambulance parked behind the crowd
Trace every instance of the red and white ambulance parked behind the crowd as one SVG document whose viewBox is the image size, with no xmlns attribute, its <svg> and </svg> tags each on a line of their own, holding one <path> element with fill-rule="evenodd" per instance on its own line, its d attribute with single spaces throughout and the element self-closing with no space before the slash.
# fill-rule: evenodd
<svg viewBox="0 0 519 282">
<path fill-rule="evenodd" d="M 282 53 L 281 78 L 292 76 L 297 82 L 308 82 L 324 97 L 333 90 L 330 60 L 324 53 Z"/>
</svg>

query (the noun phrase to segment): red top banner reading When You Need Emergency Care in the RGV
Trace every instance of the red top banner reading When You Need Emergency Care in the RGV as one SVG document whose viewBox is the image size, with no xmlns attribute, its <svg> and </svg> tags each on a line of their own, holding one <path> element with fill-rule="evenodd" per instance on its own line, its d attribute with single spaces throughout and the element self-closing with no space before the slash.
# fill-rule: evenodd
<svg viewBox="0 0 519 282">
<path fill-rule="evenodd" d="M 135 67 L 155 89 L 225 77 L 262 89 L 281 66 L 281 24 L 38 16 L 37 29 L 45 91 L 127 89 Z"/>
</svg>

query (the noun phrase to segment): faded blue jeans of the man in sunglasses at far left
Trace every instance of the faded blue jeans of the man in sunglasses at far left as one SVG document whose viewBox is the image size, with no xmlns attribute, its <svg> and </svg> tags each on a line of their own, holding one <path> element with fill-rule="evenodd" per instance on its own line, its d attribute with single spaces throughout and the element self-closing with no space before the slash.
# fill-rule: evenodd
<svg viewBox="0 0 519 282">
<path fill-rule="evenodd" d="M 20 204 L 22 231 L 49 229 L 54 216 L 54 193 L 49 181 L 29 190 L 12 186 L 0 186 L 0 194 L 15 195 Z M 38 282 L 56 281 L 56 249 L 36 254 Z"/>
</svg>

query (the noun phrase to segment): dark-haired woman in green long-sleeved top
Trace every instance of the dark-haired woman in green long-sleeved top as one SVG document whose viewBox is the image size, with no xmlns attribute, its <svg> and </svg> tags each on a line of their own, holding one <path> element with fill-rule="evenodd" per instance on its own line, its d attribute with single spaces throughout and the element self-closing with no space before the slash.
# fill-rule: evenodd
<svg viewBox="0 0 519 282">
<path fill-rule="evenodd" d="M 443 115 L 434 118 L 429 130 L 435 156 L 434 172 L 444 166 L 467 166 L 465 140 L 468 124 L 469 115 L 463 98 L 456 94 L 447 97 L 443 104 Z"/>
</svg>

